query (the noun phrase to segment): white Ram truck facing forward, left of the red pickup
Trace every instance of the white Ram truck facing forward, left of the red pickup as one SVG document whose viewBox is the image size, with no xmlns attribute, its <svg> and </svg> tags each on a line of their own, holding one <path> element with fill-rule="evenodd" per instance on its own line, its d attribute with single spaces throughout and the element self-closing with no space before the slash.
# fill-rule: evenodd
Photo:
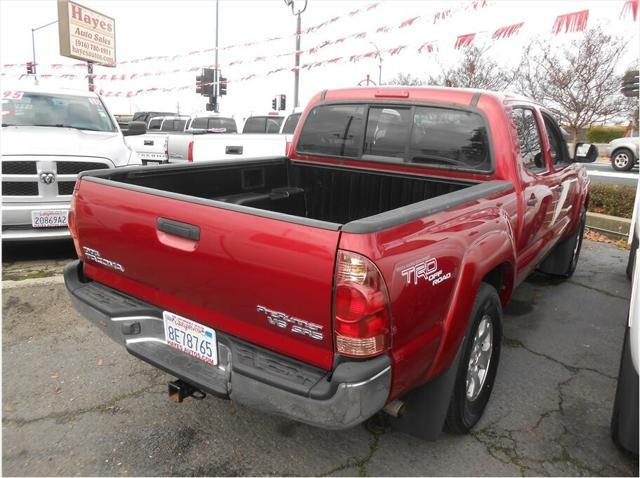
<svg viewBox="0 0 640 478">
<path fill-rule="evenodd" d="M 2 240 L 68 238 L 76 177 L 139 165 L 95 93 L 29 87 L 2 99 Z"/>
</svg>

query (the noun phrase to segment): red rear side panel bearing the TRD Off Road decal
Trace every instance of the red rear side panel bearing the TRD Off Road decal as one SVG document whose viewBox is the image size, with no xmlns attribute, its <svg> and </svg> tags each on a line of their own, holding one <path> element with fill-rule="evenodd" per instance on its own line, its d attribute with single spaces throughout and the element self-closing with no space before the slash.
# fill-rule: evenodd
<svg viewBox="0 0 640 478">
<path fill-rule="evenodd" d="M 450 366 L 483 277 L 501 264 L 513 270 L 516 220 L 517 197 L 509 191 L 377 233 L 341 235 L 340 248 L 372 259 L 387 285 L 390 400 Z M 433 281 L 416 278 L 414 267 L 424 263 Z M 512 282 L 499 291 L 505 303 Z"/>
</svg>

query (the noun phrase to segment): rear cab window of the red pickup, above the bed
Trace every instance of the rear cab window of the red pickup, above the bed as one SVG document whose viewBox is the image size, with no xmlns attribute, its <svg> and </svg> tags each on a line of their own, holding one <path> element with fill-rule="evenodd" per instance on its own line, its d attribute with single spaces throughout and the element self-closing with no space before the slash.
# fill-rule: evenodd
<svg viewBox="0 0 640 478">
<path fill-rule="evenodd" d="M 330 104 L 312 109 L 299 153 L 493 171 L 489 133 L 476 111 L 446 106 Z"/>
</svg>

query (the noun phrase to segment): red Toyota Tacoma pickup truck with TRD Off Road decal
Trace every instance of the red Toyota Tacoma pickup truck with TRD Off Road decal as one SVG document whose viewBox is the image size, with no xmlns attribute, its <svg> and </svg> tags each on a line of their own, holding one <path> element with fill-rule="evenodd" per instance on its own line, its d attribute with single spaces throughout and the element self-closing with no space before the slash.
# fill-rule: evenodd
<svg viewBox="0 0 640 478">
<path fill-rule="evenodd" d="M 417 436 L 462 433 L 514 288 L 536 267 L 573 273 L 588 183 L 525 98 L 323 91 L 287 157 L 82 173 L 65 281 L 84 316 L 179 379 L 179 401 L 334 429 L 384 409 Z"/>
</svg>

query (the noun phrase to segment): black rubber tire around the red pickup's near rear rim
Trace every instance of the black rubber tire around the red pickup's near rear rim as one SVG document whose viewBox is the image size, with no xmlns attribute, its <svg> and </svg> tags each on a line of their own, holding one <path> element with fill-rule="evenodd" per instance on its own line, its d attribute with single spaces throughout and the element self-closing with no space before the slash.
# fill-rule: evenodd
<svg viewBox="0 0 640 478">
<path fill-rule="evenodd" d="M 482 385 L 469 397 L 468 375 L 472 363 L 472 352 L 476 333 L 483 319 L 492 325 L 492 347 Z M 498 371 L 502 343 L 502 305 L 495 288 L 487 283 L 480 284 L 471 312 L 471 323 L 463 342 L 463 352 L 456 375 L 453 394 L 449 403 L 445 429 L 450 433 L 468 433 L 478 423 L 489 402 L 493 383 Z"/>
</svg>

